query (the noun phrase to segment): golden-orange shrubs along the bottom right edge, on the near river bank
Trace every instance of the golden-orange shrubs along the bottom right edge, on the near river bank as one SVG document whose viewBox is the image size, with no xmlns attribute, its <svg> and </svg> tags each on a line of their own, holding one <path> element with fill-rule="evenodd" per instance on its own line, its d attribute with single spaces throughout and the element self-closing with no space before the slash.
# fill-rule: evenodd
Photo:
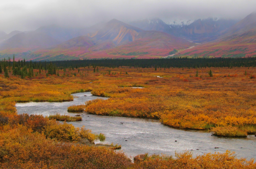
<svg viewBox="0 0 256 169">
<path fill-rule="evenodd" d="M 237 159 L 235 152 L 207 153 L 193 158 L 191 152 L 176 153 L 176 159 L 149 156 L 134 163 L 131 169 L 254 169 L 253 160 Z"/>
</svg>

